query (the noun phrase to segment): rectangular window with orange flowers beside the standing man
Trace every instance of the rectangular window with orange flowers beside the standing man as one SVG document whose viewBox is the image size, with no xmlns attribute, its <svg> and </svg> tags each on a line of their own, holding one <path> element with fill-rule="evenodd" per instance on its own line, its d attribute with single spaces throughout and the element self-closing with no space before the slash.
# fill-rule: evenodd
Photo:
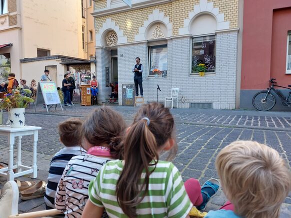
<svg viewBox="0 0 291 218">
<path fill-rule="evenodd" d="M 156 45 L 148 48 L 149 75 L 167 74 L 167 45 Z"/>
</svg>

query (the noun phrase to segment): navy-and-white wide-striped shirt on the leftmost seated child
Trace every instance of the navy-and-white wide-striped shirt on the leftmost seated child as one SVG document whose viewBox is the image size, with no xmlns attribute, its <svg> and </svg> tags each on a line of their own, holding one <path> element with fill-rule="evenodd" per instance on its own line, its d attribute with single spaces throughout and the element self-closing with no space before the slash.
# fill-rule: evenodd
<svg viewBox="0 0 291 218">
<path fill-rule="evenodd" d="M 86 153 L 79 146 L 64 147 L 57 152 L 50 161 L 47 177 L 47 185 L 44 194 L 45 209 L 54 209 L 54 196 L 57 184 L 61 178 L 64 168 L 69 160 L 76 156 Z"/>
</svg>

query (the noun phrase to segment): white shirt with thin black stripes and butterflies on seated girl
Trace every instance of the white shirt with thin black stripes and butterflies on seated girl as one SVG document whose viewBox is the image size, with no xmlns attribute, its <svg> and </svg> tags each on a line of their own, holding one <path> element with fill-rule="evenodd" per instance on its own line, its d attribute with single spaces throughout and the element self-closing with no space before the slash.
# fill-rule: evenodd
<svg viewBox="0 0 291 218">
<path fill-rule="evenodd" d="M 55 208 L 67 218 L 79 218 L 88 200 L 88 186 L 110 159 L 85 154 L 73 157 L 63 171 L 54 198 Z M 106 214 L 104 214 L 107 216 Z"/>
</svg>

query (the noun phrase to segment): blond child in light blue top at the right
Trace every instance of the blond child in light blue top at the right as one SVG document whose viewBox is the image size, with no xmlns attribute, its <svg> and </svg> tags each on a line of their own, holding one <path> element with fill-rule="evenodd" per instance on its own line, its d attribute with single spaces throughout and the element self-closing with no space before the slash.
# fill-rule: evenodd
<svg viewBox="0 0 291 218">
<path fill-rule="evenodd" d="M 227 203 L 205 218 L 279 218 L 291 191 L 291 172 L 274 149 L 251 141 L 223 148 L 215 161 Z"/>
</svg>

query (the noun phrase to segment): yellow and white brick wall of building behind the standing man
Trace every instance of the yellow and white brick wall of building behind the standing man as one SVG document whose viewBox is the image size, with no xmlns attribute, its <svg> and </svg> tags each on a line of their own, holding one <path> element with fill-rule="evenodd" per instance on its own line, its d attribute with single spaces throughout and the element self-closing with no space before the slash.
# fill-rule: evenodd
<svg viewBox="0 0 291 218">
<path fill-rule="evenodd" d="M 104 5 L 106 8 L 97 9 L 98 6 Z M 211 103 L 213 108 L 235 108 L 238 46 L 238 29 L 235 29 L 238 25 L 237 0 L 176 0 L 143 8 L 134 8 L 133 5 L 132 10 L 112 12 L 113 14 L 105 16 L 98 15 L 98 11 L 101 13 L 109 9 L 110 5 L 104 4 L 104 1 L 97 1 L 95 4 L 96 51 L 105 45 L 105 33 L 113 29 L 118 35 L 119 105 L 122 103 L 122 84 L 134 83 L 131 69 L 135 63 L 135 57 L 138 56 L 144 66 L 142 85 L 145 102 L 157 100 L 158 84 L 161 89 L 159 102 L 164 102 L 165 97 L 170 96 L 171 88 L 177 87 L 179 96 L 185 96 L 190 103 Z M 192 36 L 189 32 L 192 20 L 200 14 L 212 14 L 217 22 L 217 29 L 212 32 L 216 33 L 216 70 L 214 73 L 206 73 L 204 77 L 191 73 Z M 167 43 L 166 77 L 155 78 L 148 75 L 148 46 L 159 42 L 147 40 L 146 31 L 155 22 L 163 23 L 168 30 L 167 37 L 162 39 Z M 195 35 L 195 32 L 193 34 Z M 196 33 L 196 35 L 199 34 Z M 110 61 L 110 57 L 98 58 L 98 55 L 96 56 L 98 71 L 98 64 Z M 104 96 L 101 91 L 99 94 L 99 101 L 103 101 Z"/>
</svg>

